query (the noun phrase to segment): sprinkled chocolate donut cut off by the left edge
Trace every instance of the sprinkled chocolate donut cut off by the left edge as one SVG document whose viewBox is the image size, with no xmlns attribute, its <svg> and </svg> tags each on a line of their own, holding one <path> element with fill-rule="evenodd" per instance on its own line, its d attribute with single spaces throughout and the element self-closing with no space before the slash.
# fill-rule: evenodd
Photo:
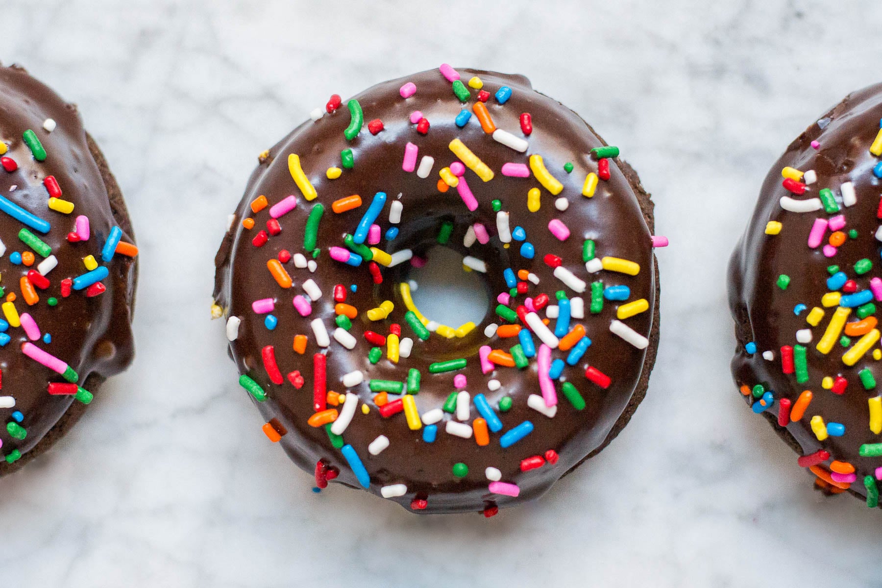
<svg viewBox="0 0 882 588">
<path fill-rule="evenodd" d="M 138 248 L 77 108 L 0 66 L 0 475 L 47 450 L 133 354 Z"/>
</svg>

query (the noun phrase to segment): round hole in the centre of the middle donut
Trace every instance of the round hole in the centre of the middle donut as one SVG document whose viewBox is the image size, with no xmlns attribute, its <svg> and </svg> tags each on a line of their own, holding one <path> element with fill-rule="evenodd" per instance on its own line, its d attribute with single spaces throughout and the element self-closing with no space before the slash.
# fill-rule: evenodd
<svg viewBox="0 0 882 588">
<path fill-rule="evenodd" d="M 428 250 L 426 264 L 414 268 L 408 279 L 417 284 L 414 303 L 424 316 L 456 328 L 472 321 L 481 324 L 490 308 L 490 293 L 479 272 L 462 269 L 462 255 L 437 245 Z"/>
</svg>

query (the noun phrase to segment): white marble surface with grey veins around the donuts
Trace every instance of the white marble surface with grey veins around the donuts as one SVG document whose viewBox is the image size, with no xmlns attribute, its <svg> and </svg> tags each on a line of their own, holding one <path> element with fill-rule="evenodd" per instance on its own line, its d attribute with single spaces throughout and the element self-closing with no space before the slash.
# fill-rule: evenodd
<svg viewBox="0 0 882 588">
<path fill-rule="evenodd" d="M 0 584 L 878 585 L 882 513 L 813 492 L 731 383 L 723 279 L 777 154 L 878 81 L 882 5 L 347 4 L 4 2 L 0 60 L 78 102 L 142 258 L 135 365 L 0 480 Z M 490 520 L 312 494 L 260 431 L 208 313 L 257 154 L 331 93 L 442 62 L 525 73 L 584 115 L 639 170 L 672 242 L 661 352 L 631 424 Z"/>
</svg>

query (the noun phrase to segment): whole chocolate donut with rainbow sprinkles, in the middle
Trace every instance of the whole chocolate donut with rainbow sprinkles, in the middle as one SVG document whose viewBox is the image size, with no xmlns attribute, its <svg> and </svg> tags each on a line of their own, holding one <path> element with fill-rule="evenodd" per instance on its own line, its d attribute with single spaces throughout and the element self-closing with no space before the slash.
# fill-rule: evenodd
<svg viewBox="0 0 882 588">
<path fill-rule="evenodd" d="M 542 495 L 647 390 L 666 240 L 638 176 L 518 75 L 444 64 L 310 118 L 260 154 L 215 259 L 266 436 L 316 490 L 407 510 Z M 415 306 L 433 247 L 482 277 L 480 324 Z"/>
</svg>

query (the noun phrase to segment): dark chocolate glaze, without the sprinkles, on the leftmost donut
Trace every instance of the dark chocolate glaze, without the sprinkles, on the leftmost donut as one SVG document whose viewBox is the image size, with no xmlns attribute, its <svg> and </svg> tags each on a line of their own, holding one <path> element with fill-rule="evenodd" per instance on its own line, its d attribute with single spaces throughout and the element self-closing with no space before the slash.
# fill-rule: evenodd
<svg viewBox="0 0 882 588">
<path fill-rule="evenodd" d="M 51 132 L 43 129 L 43 122 L 49 118 L 57 124 Z M 28 129 L 34 130 L 40 138 L 47 153 L 46 160 L 35 160 L 22 140 L 22 133 Z M 38 235 L 51 246 L 52 254 L 58 259 L 56 268 L 46 276 L 51 286 L 37 290 L 40 301 L 28 306 L 20 294 L 19 279 L 28 270 L 35 269 L 43 257 L 35 255 L 32 267 L 10 262 L 13 251 L 30 249 L 18 237 L 19 229 L 25 226 L 0 213 L 0 239 L 6 246 L 6 253 L 0 257 L 0 286 L 4 287 L 5 294 L 17 295 L 15 304 L 19 313 L 29 313 L 41 333 L 51 335 L 49 344 L 38 340 L 34 345 L 74 368 L 79 385 L 86 386 L 86 378 L 89 378 L 88 385 L 100 383 L 131 363 L 135 259 L 117 254 L 108 264 L 110 275 L 103 280 L 107 290 L 97 296 L 87 298 L 85 291 L 80 291 L 63 298 L 60 282 L 86 272 L 83 257 L 91 254 L 101 264 L 101 246 L 111 227 L 120 225 L 123 241 L 133 242 L 122 200 L 111 202 L 113 198 L 108 194 L 106 182 L 108 178 L 112 182 L 112 176 L 106 170 L 102 174 L 103 160 L 101 165 L 95 160 L 95 153 L 100 156 L 100 152 L 87 138 L 77 108 L 17 66 L 0 67 L 0 141 L 9 148 L 4 157 L 18 164 L 18 169 L 11 173 L 0 168 L 0 194 L 49 220 L 49 233 Z M 70 215 L 49 209 L 49 194 L 42 183 L 48 175 L 55 176 L 64 200 L 74 203 L 74 212 Z M 118 190 L 115 183 L 113 189 Z M 91 236 L 87 242 L 68 242 L 67 234 L 74 230 L 74 219 L 80 214 L 89 218 Z M 46 303 L 49 297 L 58 300 L 56 307 Z M 0 408 L 3 420 L 0 452 L 4 456 L 16 449 L 22 454 L 33 450 L 67 413 L 78 415 L 80 412 L 80 406 L 71 406 L 76 402 L 73 397 L 49 395 L 48 383 L 64 382 L 64 379 L 21 353 L 21 344 L 28 340 L 24 330 L 10 328 L 6 333 L 11 341 L 0 347 L 0 369 L 3 370 L 0 396 L 14 397 L 15 406 Z M 6 430 L 14 411 L 24 416 L 20 425 L 26 428 L 27 435 L 23 440 L 13 438 Z M 22 461 L 27 457 L 25 455 Z M 0 462 L 0 474 L 10 472 L 17 465 Z"/>
</svg>

